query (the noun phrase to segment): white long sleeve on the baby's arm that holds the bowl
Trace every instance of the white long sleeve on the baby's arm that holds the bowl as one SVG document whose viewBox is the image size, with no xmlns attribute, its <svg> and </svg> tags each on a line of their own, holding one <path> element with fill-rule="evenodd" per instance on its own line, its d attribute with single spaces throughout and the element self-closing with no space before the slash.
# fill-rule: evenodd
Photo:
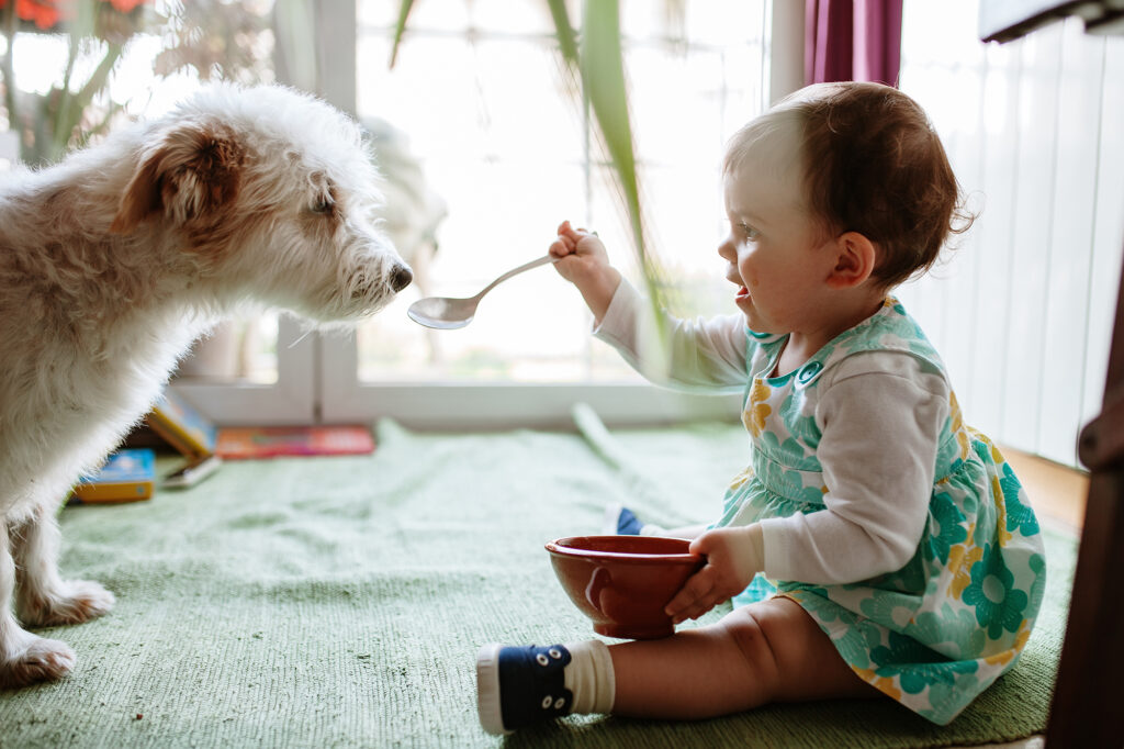
<svg viewBox="0 0 1124 749">
<path fill-rule="evenodd" d="M 761 521 L 769 577 L 841 584 L 900 569 L 917 551 L 949 418 L 944 378 L 904 353 L 851 357 L 816 406 L 825 509 Z"/>
</svg>

